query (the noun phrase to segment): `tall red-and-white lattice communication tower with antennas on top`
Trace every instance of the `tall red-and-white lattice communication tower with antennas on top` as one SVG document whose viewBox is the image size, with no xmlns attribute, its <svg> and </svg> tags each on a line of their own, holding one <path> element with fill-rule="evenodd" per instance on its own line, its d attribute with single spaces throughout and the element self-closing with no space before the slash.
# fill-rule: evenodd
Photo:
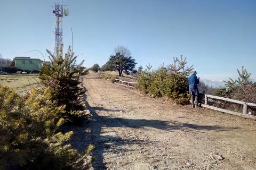
<svg viewBox="0 0 256 170">
<path fill-rule="evenodd" d="M 64 16 L 68 16 L 68 8 L 63 8 L 63 5 L 55 4 L 55 10 L 52 10 L 55 14 L 55 56 L 60 54 L 60 46 L 62 44 L 62 19 Z"/>
</svg>

